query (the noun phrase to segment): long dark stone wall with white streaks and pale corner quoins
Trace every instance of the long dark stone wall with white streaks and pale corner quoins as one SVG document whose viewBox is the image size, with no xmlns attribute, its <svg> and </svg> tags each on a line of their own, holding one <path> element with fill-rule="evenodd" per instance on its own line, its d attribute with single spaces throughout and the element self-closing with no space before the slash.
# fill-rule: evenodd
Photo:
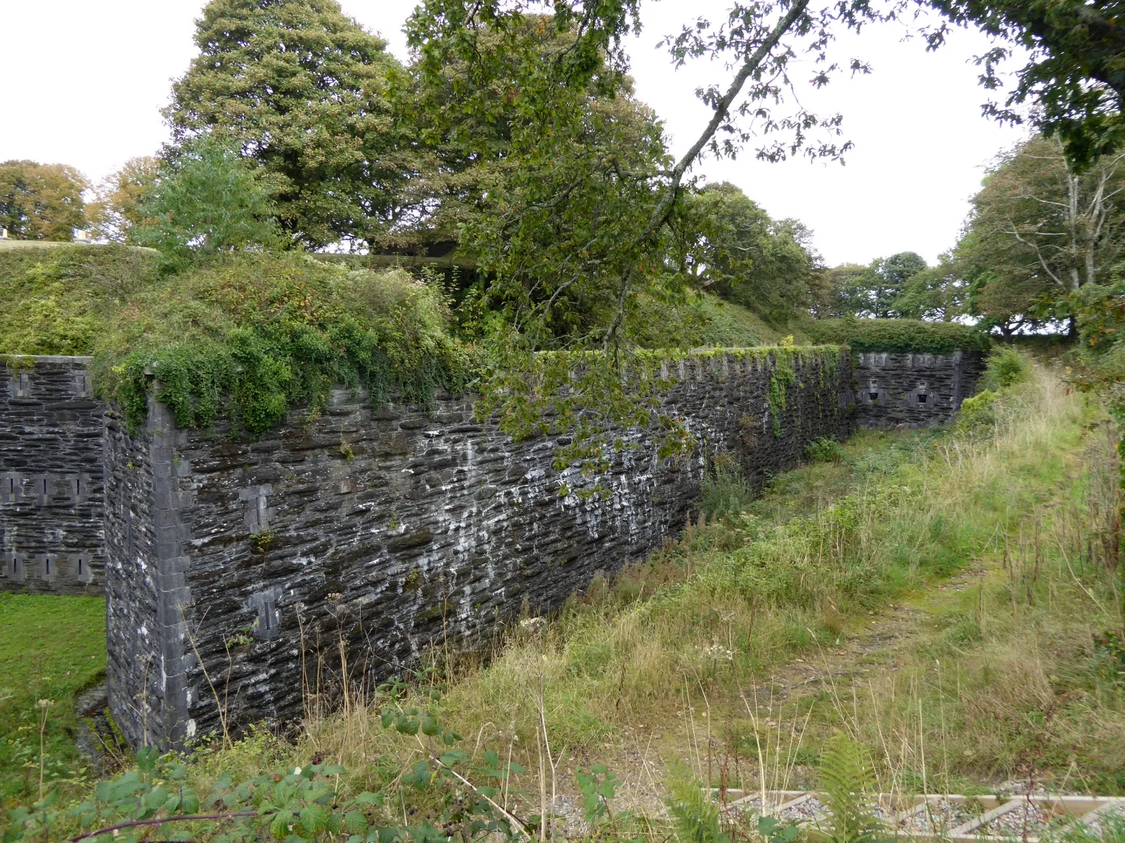
<svg viewBox="0 0 1125 843">
<path fill-rule="evenodd" d="M 264 437 L 176 430 L 151 408 L 129 433 L 107 415 L 107 593 L 114 716 L 133 741 L 174 746 L 228 724 L 282 723 L 339 681 L 368 683 L 426 647 L 487 644 L 548 613 L 684 524 L 706 460 L 729 452 L 760 484 L 808 442 L 844 437 L 850 357 L 777 352 L 668 368 L 666 409 L 698 441 L 658 459 L 636 432 L 597 479 L 552 468 L 561 439 L 513 443 L 467 399 L 431 413 L 333 393 Z M 785 386 L 786 380 L 792 380 Z M 777 413 L 775 425 L 774 413 Z M 201 660 L 201 663 L 200 663 Z M 202 668 L 206 667 L 206 673 Z M 320 679 L 318 679 L 320 678 Z M 216 699 L 217 698 L 217 699 Z"/>
</svg>

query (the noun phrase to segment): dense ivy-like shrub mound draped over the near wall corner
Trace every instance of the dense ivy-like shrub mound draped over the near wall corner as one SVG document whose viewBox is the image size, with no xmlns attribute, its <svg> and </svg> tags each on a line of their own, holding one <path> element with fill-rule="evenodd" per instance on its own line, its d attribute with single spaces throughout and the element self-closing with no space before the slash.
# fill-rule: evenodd
<svg viewBox="0 0 1125 843">
<path fill-rule="evenodd" d="M 94 360 L 98 391 L 141 424 L 146 395 L 180 427 L 217 417 L 261 433 L 334 384 L 430 404 L 464 389 L 468 348 L 440 297 L 400 270 L 349 271 L 305 255 L 235 254 L 170 275 L 122 308 Z"/>
</svg>

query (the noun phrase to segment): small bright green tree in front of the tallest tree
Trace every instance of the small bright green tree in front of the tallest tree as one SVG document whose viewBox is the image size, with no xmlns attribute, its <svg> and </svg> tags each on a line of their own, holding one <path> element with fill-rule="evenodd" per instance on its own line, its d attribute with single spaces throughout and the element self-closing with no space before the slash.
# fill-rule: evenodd
<svg viewBox="0 0 1125 843">
<path fill-rule="evenodd" d="M 270 191 L 218 140 L 200 137 L 166 162 L 137 206 L 129 236 L 152 246 L 169 265 L 200 255 L 284 243 Z"/>
</svg>

